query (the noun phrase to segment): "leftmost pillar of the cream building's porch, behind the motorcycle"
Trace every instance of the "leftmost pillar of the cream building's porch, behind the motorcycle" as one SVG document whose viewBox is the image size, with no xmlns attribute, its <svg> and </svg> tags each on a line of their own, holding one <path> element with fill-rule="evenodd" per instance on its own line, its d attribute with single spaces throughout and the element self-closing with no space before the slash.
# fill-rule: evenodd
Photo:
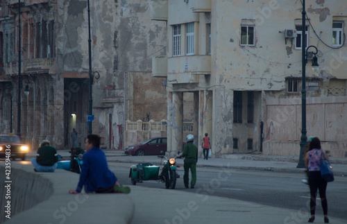
<svg viewBox="0 0 347 224">
<path fill-rule="evenodd" d="M 171 155 L 176 155 L 178 151 L 182 151 L 183 144 L 183 92 L 173 92 L 172 113 Z"/>
</svg>

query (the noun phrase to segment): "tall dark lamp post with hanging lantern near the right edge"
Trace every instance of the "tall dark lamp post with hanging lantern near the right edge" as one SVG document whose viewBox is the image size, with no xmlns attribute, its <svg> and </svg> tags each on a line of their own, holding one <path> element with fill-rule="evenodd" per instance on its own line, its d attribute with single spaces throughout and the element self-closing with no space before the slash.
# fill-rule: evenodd
<svg viewBox="0 0 347 224">
<path fill-rule="evenodd" d="M 314 47 L 316 49 L 316 52 L 314 54 L 314 58 L 312 60 L 312 69 L 315 67 L 318 67 L 319 64 L 317 63 L 317 57 L 316 53 L 318 53 L 318 50 L 316 46 L 308 46 L 307 49 L 305 48 L 306 45 L 306 12 L 305 12 L 305 0 L 303 0 L 303 11 L 301 12 L 303 15 L 303 27 L 302 27 L 302 33 L 301 33 L 301 46 L 302 46 L 302 85 L 301 85 L 301 141 L 300 141 L 300 155 L 299 155 L 299 162 L 296 168 L 305 168 L 305 162 L 304 162 L 304 154 L 307 150 L 307 129 L 306 129 L 306 64 L 307 64 L 307 50 L 310 49 L 310 47 Z"/>
</svg>

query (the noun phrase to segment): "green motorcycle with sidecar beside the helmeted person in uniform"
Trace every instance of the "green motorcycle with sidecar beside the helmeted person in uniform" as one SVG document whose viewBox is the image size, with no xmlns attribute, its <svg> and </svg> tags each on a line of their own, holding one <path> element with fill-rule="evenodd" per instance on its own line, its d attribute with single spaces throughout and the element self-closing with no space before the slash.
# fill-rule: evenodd
<svg viewBox="0 0 347 224">
<path fill-rule="evenodd" d="M 164 155 L 158 155 L 158 157 L 164 159 L 162 161 L 162 172 L 159 173 L 160 167 L 153 163 L 140 163 L 130 166 L 129 178 L 131 184 L 136 185 L 137 182 L 144 182 L 146 180 L 158 180 L 164 182 L 167 189 L 175 189 L 176 180 L 179 178 L 177 173 L 177 167 L 179 166 L 176 166 L 176 158 L 178 156 L 167 158 Z"/>
</svg>

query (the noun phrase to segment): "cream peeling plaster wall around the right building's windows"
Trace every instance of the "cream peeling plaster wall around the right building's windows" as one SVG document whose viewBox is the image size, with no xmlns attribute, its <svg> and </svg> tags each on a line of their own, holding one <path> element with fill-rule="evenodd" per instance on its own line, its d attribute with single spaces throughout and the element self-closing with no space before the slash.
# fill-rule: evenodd
<svg viewBox="0 0 347 224">
<path fill-rule="evenodd" d="M 201 91 L 203 89 L 212 90 L 213 97 L 213 148 L 218 153 L 244 152 L 247 137 L 253 138 L 254 148 L 260 148 L 260 123 L 271 119 L 266 110 L 266 99 L 273 98 L 294 98 L 301 99 L 298 94 L 287 93 L 286 78 L 301 78 L 302 74 L 302 52 L 295 49 L 295 39 L 285 40 L 285 29 L 295 29 L 296 25 L 301 25 L 301 11 L 303 6 L 301 1 L 211 1 L 210 19 L 203 16 L 204 13 L 192 12 L 191 2 L 169 1 L 168 18 L 168 83 L 172 92 Z M 319 64 L 321 71 L 314 74 L 311 69 L 311 60 L 306 65 L 307 83 L 317 80 L 318 90 L 307 92 L 307 97 L 322 97 L 338 94 L 346 94 L 347 55 L 346 46 L 341 49 L 330 49 L 321 43 L 321 40 L 328 45 L 332 45 L 332 21 L 347 22 L 347 5 L 344 1 L 313 1 L 306 6 L 307 21 L 309 28 L 309 44 L 319 48 Z M 199 16 L 197 16 L 199 15 Z M 196 21 L 199 24 L 198 37 L 195 40 L 203 39 L 203 26 L 207 21 L 211 21 L 211 75 L 207 79 L 198 76 L 198 83 L 195 77 L 185 73 L 183 56 L 172 57 L 173 38 L 171 25 L 185 24 Z M 240 26 L 255 25 L 255 46 L 240 46 Z M 195 27 L 195 26 L 194 26 Z M 313 31 L 316 31 L 317 34 Z M 185 32 L 183 32 L 183 46 L 185 44 Z M 319 40 L 321 38 L 321 40 Z M 194 43 L 195 44 L 195 43 Z M 196 54 L 204 54 L 199 42 Z M 195 45 L 194 45 L 195 46 Z M 193 58 L 192 56 L 191 58 Z M 188 61 L 190 57 L 188 56 Z M 195 64 L 189 64 L 194 67 Z M 330 82 L 334 78 L 339 78 L 339 82 Z M 170 83 L 171 82 L 171 83 Z M 174 85 L 172 83 L 175 83 Z M 192 83 L 189 83 L 192 82 Z M 188 83 L 188 84 L 186 84 Z M 300 87 L 299 83 L 299 89 Z M 242 122 L 235 125 L 232 122 L 232 100 L 234 91 L 253 91 L 255 96 L 255 117 L 254 123 Z M 330 95 L 329 95 L 330 94 Z M 244 107 L 247 105 L 244 104 Z M 271 110 L 281 108 L 279 105 L 271 105 Z M 281 108 L 282 109 L 282 108 Z M 276 113 L 275 113 L 276 114 Z M 273 115 L 273 114 L 272 114 Z M 311 119 L 309 117 L 309 119 Z M 308 121 L 313 122 L 313 121 Z M 200 125 L 201 123 L 199 123 Z M 265 126 L 268 125 L 265 122 Z M 291 138 L 291 126 L 299 126 L 299 123 L 289 124 L 289 131 L 285 128 L 277 133 L 280 139 Z M 269 128 L 269 127 L 266 127 Z M 199 130 L 203 128 L 199 127 Z M 266 129 L 268 130 L 268 129 Z M 294 130 L 292 130 L 294 131 Z M 232 150 L 232 138 L 244 136 L 239 150 Z"/>
</svg>

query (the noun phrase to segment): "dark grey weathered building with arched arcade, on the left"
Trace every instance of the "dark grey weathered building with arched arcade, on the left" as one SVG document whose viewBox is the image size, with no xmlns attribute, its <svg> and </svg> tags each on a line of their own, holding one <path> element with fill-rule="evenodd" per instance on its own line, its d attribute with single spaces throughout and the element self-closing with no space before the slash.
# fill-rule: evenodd
<svg viewBox="0 0 347 224">
<path fill-rule="evenodd" d="M 151 74 L 151 56 L 164 55 L 166 51 L 165 24 L 151 23 L 149 1 L 3 0 L 1 133 L 17 132 L 20 52 L 23 141 L 37 148 L 42 139 L 49 139 L 58 149 L 68 148 L 71 130 L 76 128 L 78 144 L 83 146 L 88 132 L 90 87 L 89 2 L 92 132 L 101 135 L 102 146 L 124 147 L 127 119 L 142 119 L 162 107 L 167 110 L 166 100 L 146 102 L 144 96 L 134 97 L 133 91 L 133 86 Z M 144 83 L 153 85 L 148 80 Z M 26 86 L 28 96 L 23 91 Z M 164 85 L 147 94 L 150 98 L 158 94 L 166 98 Z"/>
</svg>

